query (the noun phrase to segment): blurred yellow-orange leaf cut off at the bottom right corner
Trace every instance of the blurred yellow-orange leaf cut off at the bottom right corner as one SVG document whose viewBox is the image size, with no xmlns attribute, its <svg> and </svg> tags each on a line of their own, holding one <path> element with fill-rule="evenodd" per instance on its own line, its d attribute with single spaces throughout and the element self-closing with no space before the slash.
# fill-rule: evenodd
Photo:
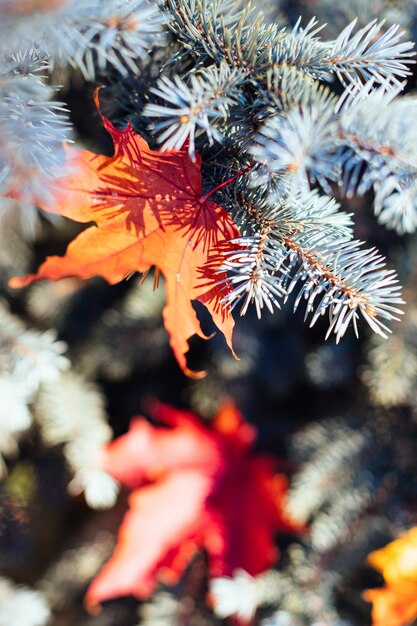
<svg viewBox="0 0 417 626">
<path fill-rule="evenodd" d="M 373 604 L 373 626 L 408 626 L 417 618 L 417 528 L 372 552 L 368 562 L 386 582 L 363 594 Z"/>
</svg>

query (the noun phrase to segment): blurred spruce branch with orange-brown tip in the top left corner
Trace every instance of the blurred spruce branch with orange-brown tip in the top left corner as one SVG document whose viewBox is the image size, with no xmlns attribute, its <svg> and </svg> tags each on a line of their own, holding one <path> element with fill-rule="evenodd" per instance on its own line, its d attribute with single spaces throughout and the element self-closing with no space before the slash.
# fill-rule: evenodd
<svg viewBox="0 0 417 626">
<path fill-rule="evenodd" d="M 1 10 L 1 8 L 0 8 Z M 79 68 L 94 80 L 109 65 L 122 75 L 162 41 L 162 15 L 147 0 L 72 0 L 31 15 L 2 15 L 4 49 L 35 47 L 51 63 Z M 17 40 L 15 38 L 17 32 Z"/>
</svg>

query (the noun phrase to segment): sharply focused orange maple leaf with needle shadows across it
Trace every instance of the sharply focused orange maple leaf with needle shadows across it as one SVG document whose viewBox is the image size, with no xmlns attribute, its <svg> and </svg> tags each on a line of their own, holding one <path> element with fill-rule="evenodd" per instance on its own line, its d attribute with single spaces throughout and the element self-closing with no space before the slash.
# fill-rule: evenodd
<svg viewBox="0 0 417 626">
<path fill-rule="evenodd" d="M 97 94 L 95 96 L 98 105 Z M 129 124 L 117 130 L 102 116 L 113 138 L 112 157 L 68 149 L 73 173 L 55 181 L 54 199 L 42 208 L 79 222 L 95 222 L 70 243 L 65 256 L 46 259 L 36 274 L 13 278 L 12 287 L 67 276 L 102 276 L 114 284 L 155 265 L 166 282 L 163 312 L 170 344 L 188 374 L 188 339 L 202 332 L 191 301 L 210 311 L 232 348 L 234 321 L 221 300 L 227 293 L 219 273 L 221 251 L 239 231 L 223 208 L 202 196 L 201 158 L 181 150 L 151 150 Z"/>
</svg>

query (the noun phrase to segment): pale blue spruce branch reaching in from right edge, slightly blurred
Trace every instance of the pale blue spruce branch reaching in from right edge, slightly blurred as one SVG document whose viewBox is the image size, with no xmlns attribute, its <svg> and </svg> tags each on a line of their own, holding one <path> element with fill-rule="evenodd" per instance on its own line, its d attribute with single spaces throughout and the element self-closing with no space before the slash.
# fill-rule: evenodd
<svg viewBox="0 0 417 626">
<path fill-rule="evenodd" d="M 275 196 L 305 193 L 318 182 L 337 182 L 347 197 L 375 190 L 375 213 L 400 234 L 417 226 L 415 110 L 413 97 L 396 98 L 374 80 L 341 98 L 312 85 L 299 103 L 274 114 L 249 148 L 259 166 L 255 186 Z"/>
</svg>

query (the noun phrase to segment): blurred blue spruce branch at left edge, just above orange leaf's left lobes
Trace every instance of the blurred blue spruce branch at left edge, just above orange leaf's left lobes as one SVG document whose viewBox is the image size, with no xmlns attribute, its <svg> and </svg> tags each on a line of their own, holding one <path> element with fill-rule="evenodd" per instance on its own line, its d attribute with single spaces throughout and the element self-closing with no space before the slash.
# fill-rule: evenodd
<svg viewBox="0 0 417 626">
<path fill-rule="evenodd" d="M 0 53 L 0 193 L 29 202 L 48 194 L 48 179 L 64 163 L 71 139 L 66 107 L 45 82 L 48 58 L 35 48 Z"/>
</svg>

